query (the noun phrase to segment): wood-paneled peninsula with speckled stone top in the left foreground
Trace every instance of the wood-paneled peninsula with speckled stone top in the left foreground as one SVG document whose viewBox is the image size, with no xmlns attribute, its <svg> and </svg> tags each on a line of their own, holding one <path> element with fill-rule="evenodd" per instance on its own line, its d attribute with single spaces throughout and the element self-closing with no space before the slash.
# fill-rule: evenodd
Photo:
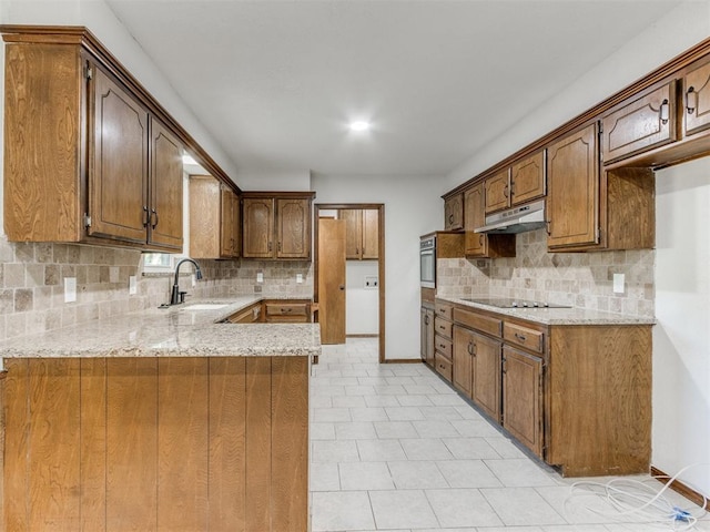
<svg viewBox="0 0 710 532">
<path fill-rule="evenodd" d="M 3 530 L 307 530 L 320 328 L 225 321 L 260 300 L 0 344 Z"/>
</svg>

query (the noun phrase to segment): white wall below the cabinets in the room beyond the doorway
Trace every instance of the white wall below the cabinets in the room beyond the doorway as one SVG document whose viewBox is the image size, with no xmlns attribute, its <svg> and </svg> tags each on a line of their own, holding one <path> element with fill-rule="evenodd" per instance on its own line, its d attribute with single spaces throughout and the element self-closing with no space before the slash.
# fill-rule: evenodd
<svg viewBox="0 0 710 532">
<path fill-rule="evenodd" d="M 345 263 L 345 334 L 379 332 L 379 290 L 366 288 L 365 277 L 377 277 L 377 260 Z"/>
</svg>

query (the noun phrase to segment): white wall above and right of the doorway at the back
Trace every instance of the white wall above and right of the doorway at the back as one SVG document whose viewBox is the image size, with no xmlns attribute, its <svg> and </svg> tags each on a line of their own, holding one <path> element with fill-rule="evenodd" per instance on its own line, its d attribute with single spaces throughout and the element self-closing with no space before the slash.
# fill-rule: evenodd
<svg viewBox="0 0 710 532">
<path fill-rule="evenodd" d="M 315 174 L 311 183 L 316 204 L 385 205 L 385 357 L 419 358 L 419 235 L 443 227 L 442 178 Z"/>
</svg>

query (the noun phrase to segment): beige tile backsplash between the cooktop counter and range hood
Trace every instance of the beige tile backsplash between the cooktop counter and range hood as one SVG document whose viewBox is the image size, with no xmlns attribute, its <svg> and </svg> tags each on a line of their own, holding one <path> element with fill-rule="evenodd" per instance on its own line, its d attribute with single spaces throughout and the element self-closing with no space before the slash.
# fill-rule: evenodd
<svg viewBox="0 0 710 532">
<path fill-rule="evenodd" d="M 538 299 L 653 316 L 653 249 L 548 253 L 545 229 L 520 233 L 516 241 L 514 258 L 438 259 L 437 293 Z M 623 294 L 613 293 L 613 274 L 625 275 Z"/>
</svg>

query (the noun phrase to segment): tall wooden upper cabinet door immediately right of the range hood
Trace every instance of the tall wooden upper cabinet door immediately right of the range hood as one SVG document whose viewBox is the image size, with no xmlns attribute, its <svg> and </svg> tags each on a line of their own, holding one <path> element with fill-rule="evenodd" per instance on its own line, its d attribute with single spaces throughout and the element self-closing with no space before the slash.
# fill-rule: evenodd
<svg viewBox="0 0 710 532">
<path fill-rule="evenodd" d="M 548 149 L 547 245 L 594 246 L 599 242 L 599 152 L 597 124 Z"/>
</svg>

